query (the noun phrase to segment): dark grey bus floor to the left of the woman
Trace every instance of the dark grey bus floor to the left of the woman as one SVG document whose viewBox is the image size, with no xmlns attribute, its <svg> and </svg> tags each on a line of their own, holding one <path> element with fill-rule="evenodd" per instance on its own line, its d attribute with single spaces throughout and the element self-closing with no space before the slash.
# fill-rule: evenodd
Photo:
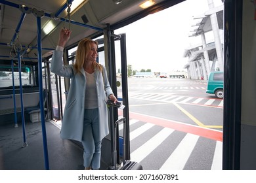
<svg viewBox="0 0 256 183">
<path fill-rule="evenodd" d="M 83 149 L 77 142 L 60 139 L 60 129 L 45 122 L 47 131 L 47 154 L 49 169 L 82 170 Z M 45 153 L 40 122 L 25 123 L 26 142 L 22 133 L 22 124 L 0 126 L 0 169 L 5 170 L 44 170 Z"/>
</svg>

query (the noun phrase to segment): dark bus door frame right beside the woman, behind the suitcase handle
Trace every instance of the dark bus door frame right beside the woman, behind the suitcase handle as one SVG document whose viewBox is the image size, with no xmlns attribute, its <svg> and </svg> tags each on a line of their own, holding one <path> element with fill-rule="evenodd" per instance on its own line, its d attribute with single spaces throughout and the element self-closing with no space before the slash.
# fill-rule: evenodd
<svg viewBox="0 0 256 183">
<path fill-rule="evenodd" d="M 126 37 L 125 33 L 121 35 L 115 35 L 114 31 L 110 30 L 110 25 L 108 25 L 108 31 L 106 33 L 107 37 L 107 70 L 109 73 L 109 82 L 112 87 L 114 95 L 117 97 L 117 84 L 116 84 L 116 58 L 115 58 L 115 41 L 120 41 L 120 52 L 121 52 L 121 83 L 122 83 L 122 101 L 125 108 L 123 108 L 123 117 L 126 120 L 125 123 L 125 160 L 131 159 L 130 154 L 130 137 L 129 137 L 129 103 L 128 103 L 128 84 L 127 84 L 127 55 L 126 55 Z M 118 120 L 118 110 L 117 108 L 110 107 L 110 136 L 111 136 L 111 149 L 114 150 L 116 145 L 116 162 L 119 164 L 119 143 L 114 144 L 114 142 L 119 142 L 119 136 L 116 136 L 116 141 L 113 141 L 114 137 L 114 122 Z M 118 125 L 116 127 L 116 133 L 119 131 Z M 114 167 L 114 153 L 112 153 L 112 167 Z"/>
</svg>

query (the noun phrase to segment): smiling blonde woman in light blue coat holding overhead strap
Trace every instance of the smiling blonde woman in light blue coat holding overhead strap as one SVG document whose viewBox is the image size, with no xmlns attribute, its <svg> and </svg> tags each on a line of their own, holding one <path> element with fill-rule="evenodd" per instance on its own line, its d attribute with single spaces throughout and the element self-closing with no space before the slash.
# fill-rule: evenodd
<svg viewBox="0 0 256 183">
<path fill-rule="evenodd" d="M 99 169 L 101 142 L 109 133 L 105 101 L 108 97 L 116 103 L 117 99 L 108 82 L 106 68 L 96 62 L 96 41 L 81 40 L 74 65 L 62 66 L 63 49 L 70 34 L 69 29 L 62 28 L 51 61 L 53 73 L 71 78 L 60 137 L 80 141 L 85 169 Z"/>
</svg>

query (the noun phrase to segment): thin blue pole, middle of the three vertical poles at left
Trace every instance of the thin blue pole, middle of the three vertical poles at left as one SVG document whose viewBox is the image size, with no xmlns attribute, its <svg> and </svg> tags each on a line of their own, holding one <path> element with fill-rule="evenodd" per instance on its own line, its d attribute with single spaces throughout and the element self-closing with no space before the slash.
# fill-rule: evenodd
<svg viewBox="0 0 256 183">
<path fill-rule="evenodd" d="M 21 61 L 20 61 L 20 48 L 18 48 L 18 74 L 20 78 L 20 107 L 22 113 L 22 133 L 23 133 L 23 146 L 28 146 L 26 142 L 26 129 L 25 129 L 25 118 L 24 118 L 24 106 L 23 106 L 23 92 L 22 92 L 22 76 L 21 76 Z"/>
</svg>

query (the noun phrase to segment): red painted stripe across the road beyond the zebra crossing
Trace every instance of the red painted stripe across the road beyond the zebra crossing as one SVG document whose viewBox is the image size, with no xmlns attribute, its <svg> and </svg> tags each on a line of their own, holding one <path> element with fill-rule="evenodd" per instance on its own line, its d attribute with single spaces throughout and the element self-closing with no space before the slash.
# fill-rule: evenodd
<svg viewBox="0 0 256 183">
<path fill-rule="evenodd" d="M 123 111 L 118 110 L 119 115 L 123 115 Z M 199 135 L 200 137 L 205 137 L 207 139 L 213 139 L 215 141 L 223 141 L 223 132 L 216 131 L 214 129 L 207 129 L 204 127 L 198 127 L 190 124 L 183 124 L 181 122 L 175 122 L 171 120 L 165 120 L 162 118 L 156 118 L 154 116 L 146 116 L 144 114 L 137 114 L 135 112 L 129 112 L 129 118 L 140 120 L 142 122 L 148 122 L 151 124 L 160 125 L 162 127 L 169 127 L 178 131 L 183 131 L 186 133 L 192 133 L 194 135 Z"/>
</svg>

